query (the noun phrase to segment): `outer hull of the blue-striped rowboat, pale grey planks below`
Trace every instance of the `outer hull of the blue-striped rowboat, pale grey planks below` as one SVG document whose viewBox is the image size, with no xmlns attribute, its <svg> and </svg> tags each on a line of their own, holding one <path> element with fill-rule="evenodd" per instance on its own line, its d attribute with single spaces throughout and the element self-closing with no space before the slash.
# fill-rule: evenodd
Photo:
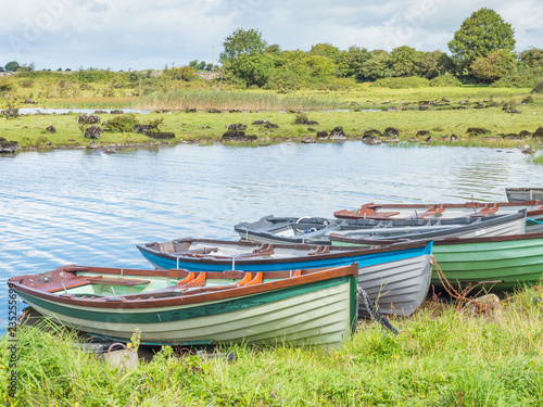
<svg viewBox="0 0 543 407">
<path fill-rule="evenodd" d="M 247 243 L 245 243 L 247 244 Z M 156 253 L 138 245 L 142 255 L 154 266 L 162 269 L 184 268 L 188 270 L 223 271 L 237 269 L 254 270 L 294 270 L 339 267 L 358 264 L 358 285 L 379 305 L 387 315 L 408 316 L 425 301 L 430 283 L 430 256 L 432 242 L 418 243 L 417 246 L 399 245 L 388 251 L 342 251 L 331 256 L 311 256 L 298 258 L 262 260 L 218 260 L 213 258 L 182 258 L 166 253 Z M 333 253 L 333 251 L 332 251 Z M 367 316 L 367 309 L 361 305 L 359 313 Z"/>
</svg>

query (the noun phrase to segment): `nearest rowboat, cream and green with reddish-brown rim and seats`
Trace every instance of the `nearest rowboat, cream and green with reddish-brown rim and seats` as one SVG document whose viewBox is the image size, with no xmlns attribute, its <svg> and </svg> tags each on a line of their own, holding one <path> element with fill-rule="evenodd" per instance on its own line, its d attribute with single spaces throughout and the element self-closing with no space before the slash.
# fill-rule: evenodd
<svg viewBox="0 0 543 407">
<path fill-rule="evenodd" d="M 143 344 L 337 346 L 357 319 L 356 264 L 325 270 L 224 271 L 65 266 L 8 281 L 43 316 Z"/>
</svg>

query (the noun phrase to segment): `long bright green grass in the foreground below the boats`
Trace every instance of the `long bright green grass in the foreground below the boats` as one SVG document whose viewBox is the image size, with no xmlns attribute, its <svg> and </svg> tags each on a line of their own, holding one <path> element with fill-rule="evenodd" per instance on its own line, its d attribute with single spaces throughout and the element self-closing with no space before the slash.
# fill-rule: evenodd
<svg viewBox="0 0 543 407">
<path fill-rule="evenodd" d="M 237 361 L 202 361 L 164 347 L 131 372 L 110 370 L 72 346 L 73 333 L 18 330 L 17 406 L 541 406 L 543 302 L 530 289 L 502 301 L 497 320 L 458 304 L 364 322 L 334 351 L 233 346 Z M 8 366 L 7 338 L 0 341 Z M 182 356 L 182 357 L 179 357 Z M 186 356 L 189 356 L 188 358 Z"/>
</svg>

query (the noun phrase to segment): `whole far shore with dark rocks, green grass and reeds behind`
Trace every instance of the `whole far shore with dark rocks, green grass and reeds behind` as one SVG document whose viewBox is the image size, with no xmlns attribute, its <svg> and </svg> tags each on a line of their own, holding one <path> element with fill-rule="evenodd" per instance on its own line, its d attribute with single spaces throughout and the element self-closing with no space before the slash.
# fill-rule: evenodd
<svg viewBox="0 0 543 407">
<path fill-rule="evenodd" d="M 18 107 L 43 109 L 48 110 L 47 113 L 15 114 L 8 118 L 7 112 L 2 112 L 0 137 L 17 142 L 20 152 L 84 149 L 91 141 L 105 149 L 180 143 L 263 147 L 281 142 L 352 140 L 361 140 L 369 145 L 522 147 L 527 153 L 543 148 L 543 97 L 528 96 L 521 89 L 408 90 L 361 85 L 345 92 L 292 93 L 300 100 L 333 100 L 330 106 L 334 107 L 331 110 L 326 110 L 324 105 L 317 107 L 318 103 L 313 107 L 321 110 L 311 110 L 311 104 L 305 105 L 310 110 L 302 106 L 295 110 L 287 105 L 266 110 L 258 98 L 274 94 L 264 91 L 209 93 L 181 92 L 178 97 L 188 99 L 181 98 L 180 102 L 175 99 L 168 103 L 161 100 L 159 94 L 156 103 L 151 104 L 150 100 L 138 98 L 130 101 L 123 98 L 92 101 L 76 98 L 50 100 L 47 103 L 38 100 L 35 104 L 22 104 Z M 232 100 L 217 97 L 223 93 L 233 93 L 230 94 Z M 243 105 L 245 97 L 248 101 Z M 185 109 L 179 104 L 181 102 L 192 107 Z M 87 113 L 79 114 L 72 110 Z M 13 111 L 17 111 L 17 107 L 14 106 Z M 135 111 L 146 113 L 132 113 Z M 96 117 L 92 122 L 81 120 L 80 115 L 84 114 Z M 116 129 L 109 127 L 109 122 L 119 120 L 128 120 L 129 125 L 121 123 Z M 136 125 L 140 127 L 139 133 L 135 132 Z M 85 137 L 89 127 L 100 127 L 98 137 Z M 141 128 L 144 128 L 143 131 Z"/>
</svg>

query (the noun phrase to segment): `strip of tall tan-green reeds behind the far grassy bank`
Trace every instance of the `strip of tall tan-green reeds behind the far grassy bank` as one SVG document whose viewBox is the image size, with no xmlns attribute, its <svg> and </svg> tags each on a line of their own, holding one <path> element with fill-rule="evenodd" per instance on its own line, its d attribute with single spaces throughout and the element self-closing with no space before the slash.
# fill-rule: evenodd
<svg viewBox="0 0 543 407">
<path fill-rule="evenodd" d="M 240 90 L 174 90 L 141 97 L 140 106 L 150 110 L 184 111 L 198 109 L 207 111 L 311 111 L 337 109 L 334 99 L 310 96 L 281 96 L 266 91 Z"/>
</svg>

